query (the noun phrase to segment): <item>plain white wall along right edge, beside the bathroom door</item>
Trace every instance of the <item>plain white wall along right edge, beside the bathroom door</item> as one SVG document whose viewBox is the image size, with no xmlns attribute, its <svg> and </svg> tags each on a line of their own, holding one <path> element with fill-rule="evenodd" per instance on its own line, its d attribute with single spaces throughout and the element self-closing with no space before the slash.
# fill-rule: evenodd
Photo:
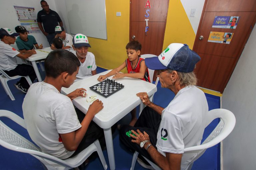
<svg viewBox="0 0 256 170">
<path fill-rule="evenodd" d="M 240 56 L 222 96 L 222 108 L 236 117 L 223 141 L 223 169 L 256 169 L 256 27 Z"/>
</svg>

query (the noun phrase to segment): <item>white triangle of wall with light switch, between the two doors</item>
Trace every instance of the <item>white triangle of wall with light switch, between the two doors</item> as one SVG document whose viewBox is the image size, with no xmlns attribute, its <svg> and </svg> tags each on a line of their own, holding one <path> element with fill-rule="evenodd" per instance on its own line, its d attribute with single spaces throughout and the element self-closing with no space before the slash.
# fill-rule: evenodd
<svg viewBox="0 0 256 170">
<path fill-rule="evenodd" d="M 180 0 L 183 8 L 186 11 L 186 14 L 188 16 L 188 19 L 190 21 L 190 24 L 195 32 L 195 35 L 197 33 L 198 25 L 200 22 L 200 18 L 202 15 L 203 7 L 204 7 L 204 1 L 205 0 Z M 171 3 L 169 3 L 171 5 Z M 196 9 L 195 17 L 190 17 L 190 11 L 191 9 L 194 8 Z"/>
</svg>

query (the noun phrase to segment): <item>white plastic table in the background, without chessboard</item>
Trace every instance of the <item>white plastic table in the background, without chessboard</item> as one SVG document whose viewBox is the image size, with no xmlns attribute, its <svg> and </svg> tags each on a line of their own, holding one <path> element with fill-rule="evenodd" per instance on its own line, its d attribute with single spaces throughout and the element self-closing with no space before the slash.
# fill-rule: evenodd
<svg viewBox="0 0 256 170">
<path fill-rule="evenodd" d="M 32 66 L 36 72 L 36 77 L 39 82 L 42 81 L 41 75 L 39 73 L 38 67 L 36 65 L 36 61 L 45 59 L 47 55 L 52 51 L 50 47 L 42 48 L 42 49 L 36 49 L 36 54 L 31 55 L 27 58 L 28 61 L 31 61 Z"/>
</svg>

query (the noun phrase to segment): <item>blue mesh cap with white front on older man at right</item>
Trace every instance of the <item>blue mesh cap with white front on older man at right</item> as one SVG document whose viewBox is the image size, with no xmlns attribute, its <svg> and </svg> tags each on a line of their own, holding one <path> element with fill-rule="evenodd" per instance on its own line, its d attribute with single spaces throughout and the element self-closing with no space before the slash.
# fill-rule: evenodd
<svg viewBox="0 0 256 170">
<path fill-rule="evenodd" d="M 171 43 L 158 57 L 145 58 L 145 64 L 152 70 L 171 69 L 178 72 L 192 72 L 200 56 L 187 44 Z"/>
</svg>

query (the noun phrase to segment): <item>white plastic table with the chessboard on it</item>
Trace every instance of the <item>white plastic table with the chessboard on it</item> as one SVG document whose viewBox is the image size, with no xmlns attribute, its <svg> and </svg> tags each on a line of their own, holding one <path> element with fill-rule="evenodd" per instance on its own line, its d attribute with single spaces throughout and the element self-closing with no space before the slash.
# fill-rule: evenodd
<svg viewBox="0 0 256 170">
<path fill-rule="evenodd" d="M 97 78 L 100 75 L 104 75 L 111 70 L 107 70 L 105 72 L 96 74 L 89 78 L 79 80 L 71 85 L 69 88 L 62 88 L 62 94 L 69 94 L 72 91 L 78 88 L 85 88 L 87 90 L 87 96 L 96 95 L 97 99 L 103 102 L 103 109 L 95 115 L 93 121 L 101 128 L 104 129 L 104 135 L 106 140 L 107 152 L 108 152 L 108 160 L 110 169 L 115 169 L 115 157 L 114 157 L 114 149 L 113 149 L 113 139 L 111 126 L 114 125 L 117 121 L 122 119 L 126 114 L 128 114 L 132 109 L 137 107 L 138 105 L 143 105 L 140 98 L 136 96 L 139 92 L 147 92 L 151 97 L 157 91 L 157 87 L 155 84 L 133 78 L 122 78 L 117 79 L 116 81 L 120 84 L 124 85 L 124 88 L 119 90 L 118 92 L 112 94 L 108 98 L 105 98 L 96 92 L 89 89 L 89 87 L 99 83 Z M 108 77 L 111 79 L 112 76 Z M 83 113 L 87 113 L 87 110 L 91 103 L 86 102 L 86 98 L 77 97 L 72 100 L 73 104 L 81 110 Z"/>
</svg>

